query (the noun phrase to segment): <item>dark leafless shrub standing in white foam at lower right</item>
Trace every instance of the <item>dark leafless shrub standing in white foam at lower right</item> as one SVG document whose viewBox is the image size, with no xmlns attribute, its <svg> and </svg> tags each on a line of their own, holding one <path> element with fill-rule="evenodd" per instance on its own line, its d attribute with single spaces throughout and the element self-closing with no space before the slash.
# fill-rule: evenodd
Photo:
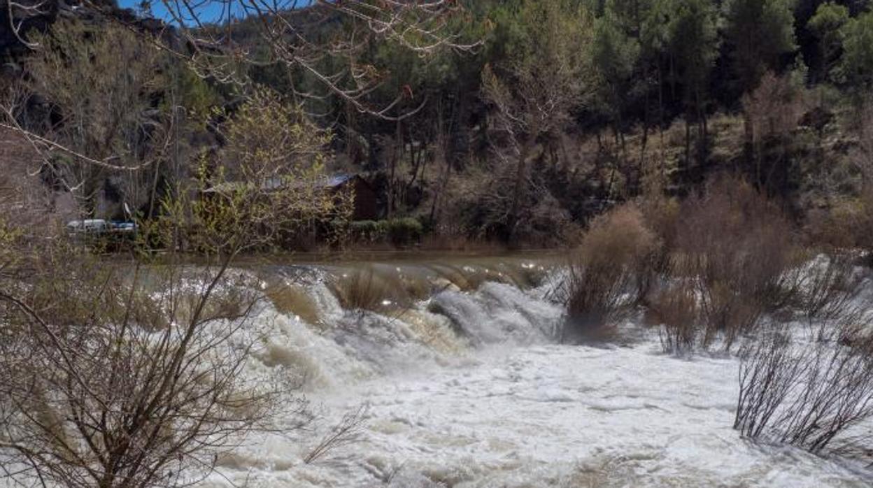
<svg viewBox="0 0 873 488">
<path fill-rule="evenodd" d="M 794 343 L 786 333 L 761 334 L 744 348 L 734 428 L 743 436 L 821 453 L 873 416 L 869 338 L 834 329 L 836 340 Z"/>
</svg>

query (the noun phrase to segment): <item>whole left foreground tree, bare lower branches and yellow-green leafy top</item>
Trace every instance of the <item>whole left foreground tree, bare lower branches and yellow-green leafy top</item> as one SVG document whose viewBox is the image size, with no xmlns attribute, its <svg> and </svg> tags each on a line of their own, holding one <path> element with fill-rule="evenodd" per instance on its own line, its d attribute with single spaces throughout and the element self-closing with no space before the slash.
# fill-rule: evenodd
<svg viewBox="0 0 873 488">
<path fill-rule="evenodd" d="M 222 179 L 229 169 L 217 162 L 200 186 L 174 192 L 160 218 L 142 223 L 129 261 L 58 237 L 29 252 L 30 241 L 9 234 L 6 269 L 17 272 L 0 276 L 0 474 L 65 486 L 189 485 L 251 431 L 306 421 L 287 378 L 245 374 L 269 324 L 255 320 L 259 281 L 231 271 L 278 229 L 344 215 L 317 189 L 265 187 L 278 168 L 313 178 L 320 170 L 323 134 L 280 118 L 296 113 L 283 107 L 257 94 L 231 119 L 229 154 L 244 150 L 233 141 L 264 137 L 262 146 L 233 168 L 237 179 Z M 207 189 L 220 191 L 206 198 Z M 197 265 L 176 251 L 182 242 L 201 251 Z M 156 261 L 155 243 L 167 251 Z"/>
</svg>

